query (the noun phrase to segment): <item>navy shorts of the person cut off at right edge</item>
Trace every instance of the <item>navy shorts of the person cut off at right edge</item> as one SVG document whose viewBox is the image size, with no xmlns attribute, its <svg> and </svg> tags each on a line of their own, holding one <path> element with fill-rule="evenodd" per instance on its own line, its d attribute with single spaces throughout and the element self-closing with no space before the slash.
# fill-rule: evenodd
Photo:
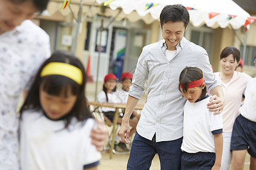
<svg viewBox="0 0 256 170">
<path fill-rule="evenodd" d="M 256 122 L 250 121 L 241 114 L 234 122 L 230 150 L 248 150 L 256 158 Z"/>
</svg>

